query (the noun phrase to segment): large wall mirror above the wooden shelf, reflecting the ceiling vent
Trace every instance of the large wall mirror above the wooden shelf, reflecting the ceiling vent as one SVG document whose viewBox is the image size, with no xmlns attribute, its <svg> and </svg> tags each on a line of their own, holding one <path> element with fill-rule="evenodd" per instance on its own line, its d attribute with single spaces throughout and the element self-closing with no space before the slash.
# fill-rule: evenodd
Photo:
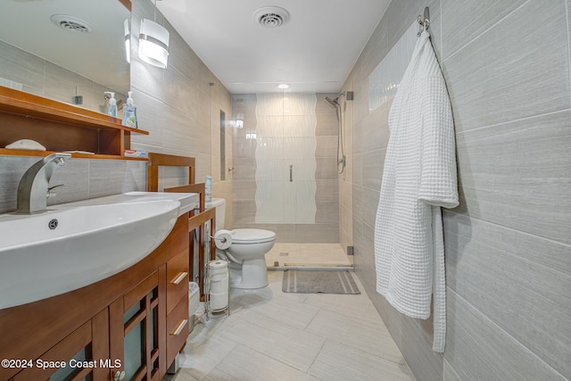
<svg viewBox="0 0 571 381">
<path fill-rule="evenodd" d="M 130 86 L 123 3 L 130 7 L 125 0 L 4 0 L 0 85 L 103 113 L 103 92 L 113 91 L 120 105 Z"/>
</svg>

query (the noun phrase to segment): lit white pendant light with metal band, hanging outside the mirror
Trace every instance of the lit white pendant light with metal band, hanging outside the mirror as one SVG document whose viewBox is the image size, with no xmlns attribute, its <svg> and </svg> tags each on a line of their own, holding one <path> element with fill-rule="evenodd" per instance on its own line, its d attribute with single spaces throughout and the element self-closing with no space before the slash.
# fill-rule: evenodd
<svg viewBox="0 0 571 381">
<path fill-rule="evenodd" d="M 141 20 L 139 32 L 139 58 L 159 68 L 166 69 L 169 61 L 169 31 L 156 23 L 157 2 L 154 1 L 154 21 Z"/>
</svg>

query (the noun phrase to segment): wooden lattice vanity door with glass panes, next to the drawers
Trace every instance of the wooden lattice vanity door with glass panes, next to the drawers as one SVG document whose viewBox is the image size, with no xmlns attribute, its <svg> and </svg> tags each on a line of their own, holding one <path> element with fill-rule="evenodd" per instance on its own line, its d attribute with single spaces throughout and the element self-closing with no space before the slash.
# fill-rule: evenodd
<svg viewBox="0 0 571 381">
<path fill-rule="evenodd" d="M 109 306 L 111 379 L 158 380 L 164 367 L 164 265 Z M 160 302 L 161 301 L 161 302 Z M 162 309 L 162 311 L 161 311 Z M 164 344 L 162 344 L 164 345 Z M 124 374 L 122 372 L 125 372 Z"/>
</svg>

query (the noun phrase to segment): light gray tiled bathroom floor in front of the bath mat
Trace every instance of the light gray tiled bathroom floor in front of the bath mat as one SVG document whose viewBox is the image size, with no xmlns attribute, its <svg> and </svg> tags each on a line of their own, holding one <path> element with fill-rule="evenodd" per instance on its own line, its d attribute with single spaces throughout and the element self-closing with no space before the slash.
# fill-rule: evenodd
<svg viewBox="0 0 571 381">
<path fill-rule="evenodd" d="M 196 318 L 169 381 L 414 380 L 364 293 L 285 294 L 269 286 L 232 290 L 231 314 Z"/>
</svg>

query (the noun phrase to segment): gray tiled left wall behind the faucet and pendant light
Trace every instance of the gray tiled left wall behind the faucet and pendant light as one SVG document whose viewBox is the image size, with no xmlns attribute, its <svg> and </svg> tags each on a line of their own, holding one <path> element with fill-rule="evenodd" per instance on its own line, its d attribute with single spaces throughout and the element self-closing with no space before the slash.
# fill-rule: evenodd
<svg viewBox="0 0 571 381">
<path fill-rule="evenodd" d="M 151 2 L 134 0 L 131 13 L 132 36 L 138 36 L 141 18 L 153 19 Z M 207 174 L 213 180 L 213 195 L 232 202 L 232 179 L 220 177 L 220 110 L 231 115 L 228 90 L 186 45 L 178 33 L 165 22 L 160 12 L 157 21 L 170 31 L 169 67 L 155 68 L 131 54 L 131 87 L 137 104 L 139 128 L 150 135 L 131 135 L 131 146 L 147 152 L 169 153 L 196 158 L 196 181 Z M 132 38 L 137 52 L 137 38 Z M 3 50 L 3 52 L 5 52 Z M 5 56 L 3 55 L 3 58 Z M 37 58 L 37 57 L 36 57 Z M 26 58 L 34 61 L 34 57 Z M 33 78 L 37 70 L 21 71 L 22 78 Z M 45 95 L 47 94 L 40 94 Z M 84 98 L 85 100 L 85 98 Z M 226 157 L 232 166 L 232 132 L 226 134 Z M 16 207 L 16 189 L 21 175 L 37 158 L 0 156 L 0 212 Z M 162 170 L 161 186 L 186 183 L 185 170 Z M 65 184 L 49 203 L 67 203 L 133 190 L 146 190 L 146 162 L 120 160 L 71 159 L 67 166 L 54 171 L 50 184 Z M 227 220 L 232 208 L 227 208 Z"/>
</svg>

